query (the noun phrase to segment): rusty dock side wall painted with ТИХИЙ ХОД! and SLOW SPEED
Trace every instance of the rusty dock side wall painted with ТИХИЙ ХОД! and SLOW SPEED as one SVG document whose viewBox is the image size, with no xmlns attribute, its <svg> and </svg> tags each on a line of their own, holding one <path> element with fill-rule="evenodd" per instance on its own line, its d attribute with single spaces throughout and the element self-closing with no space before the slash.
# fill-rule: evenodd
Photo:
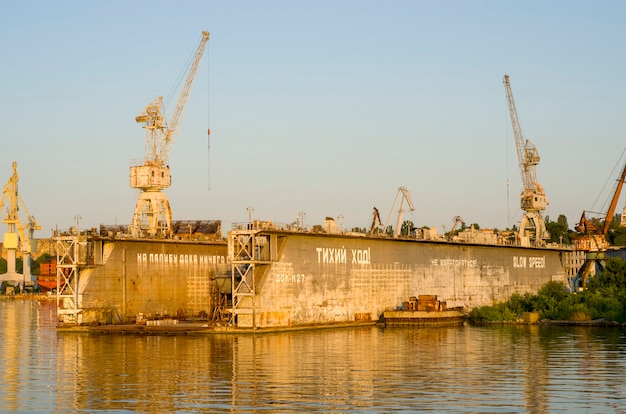
<svg viewBox="0 0 626 414">
<path fill-rule="evenodd" d="M 410 296 L 471 309 L 565 280 L 561 252 L 289 234 L 257 290 L 258 327 L 376 320 Z"/>
</svg>

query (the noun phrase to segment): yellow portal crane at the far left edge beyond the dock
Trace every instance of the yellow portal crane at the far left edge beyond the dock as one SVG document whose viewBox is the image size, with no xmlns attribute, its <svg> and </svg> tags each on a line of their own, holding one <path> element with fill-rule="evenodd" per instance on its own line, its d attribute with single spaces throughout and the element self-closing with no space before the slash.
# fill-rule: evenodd
<svg viewBox="0 0 626 414">
<path fill-rule="evenodd" d="M 30 256 L 32 253 L 37 252 L 37 241 L 34 239 L 34 231 L 41 230 L 41 226 L 37 224 L 35 217 L 31 216 L 24 204 L 24 200 L 20 196 L 17 190 L 17 182 L 19 181 L 19 175 L 17 174 L 17 162 L 13 161 L 13 174 L 9 181 L 4 185 L 2 189 L 2 197 L 0 198 L 0 211 L 7 204 L 7 215 L 2 220 L 9 227 L 9 231 L 4 234 L 3 248 L 7 250 L 7 272 L 0 275 L 0 280 L 22 282 L 22 286 L 28 280 L 31 282 L 30 274 Z M 22 225 L 20 220 L 19 211 L 20 206 L 26 213 L 28 223 Z M 24 232 L 24 228 L 27 228 L 28 232 Z M 23 254 L 24 268 L 22 274 L 17 273 L 15 269 L 15 258 L 17 249 L 21 248 Z"/>
</svg>

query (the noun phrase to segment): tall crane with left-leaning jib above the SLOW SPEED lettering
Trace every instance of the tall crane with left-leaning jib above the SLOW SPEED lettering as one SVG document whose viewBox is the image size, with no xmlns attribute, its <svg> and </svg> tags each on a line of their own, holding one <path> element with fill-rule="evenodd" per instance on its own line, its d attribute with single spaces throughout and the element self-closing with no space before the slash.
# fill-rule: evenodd
<svg viewBox="0 0 626 414">
<path fill-rule="evenodd" d="M 548 199 L 543 187 L 537 182 L 537 165 L 541 158 L 537 148 L 522 135 L 522 126 L 517 116 L 509 75 L 504 75 L 503 82 L 524 187 L 520 195 L 520 207 L 524 213 L 519 227 L 519 239 L 523 246 L 543 246 L 550 235 L 542 216 L 542 211 L 548 205 Z"/>
</svg>

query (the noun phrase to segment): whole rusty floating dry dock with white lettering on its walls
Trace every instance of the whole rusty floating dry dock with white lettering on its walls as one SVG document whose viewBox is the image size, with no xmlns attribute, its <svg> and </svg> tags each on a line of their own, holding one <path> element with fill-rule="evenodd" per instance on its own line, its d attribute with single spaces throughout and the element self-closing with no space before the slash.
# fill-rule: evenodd
<svg viewBox="0 0 626 414">
<path fill-rule="evenodd" d="M 187 227 L 172 240 L 111 229 L 59 236 L 63 327 L 141 318 L 203 318 L 205 329 L 229 331 L 373 324 L 414 292 L 467 311 L 565 282 L 573 271 L 564 247 L 369 236 L 331 219 L 309 228 L 235 225 L 227 240 Z"/>
</svg>

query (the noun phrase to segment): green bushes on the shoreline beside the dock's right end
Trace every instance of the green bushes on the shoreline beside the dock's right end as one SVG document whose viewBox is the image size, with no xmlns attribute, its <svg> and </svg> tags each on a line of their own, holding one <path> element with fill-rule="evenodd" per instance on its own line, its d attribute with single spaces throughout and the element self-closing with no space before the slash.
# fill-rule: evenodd
<svg viewBox="0 0 626 414">
<path fill-rule="evenodd" d="M 506 302 L 474 308 L 468 321 L 626 326 L 626 262 L 609 259 L 604 270 L 589 278 L 580 292 L 570 292 L 563 282 L 548 282 L 536 294 L 514 293 Z"/>
</svg>

